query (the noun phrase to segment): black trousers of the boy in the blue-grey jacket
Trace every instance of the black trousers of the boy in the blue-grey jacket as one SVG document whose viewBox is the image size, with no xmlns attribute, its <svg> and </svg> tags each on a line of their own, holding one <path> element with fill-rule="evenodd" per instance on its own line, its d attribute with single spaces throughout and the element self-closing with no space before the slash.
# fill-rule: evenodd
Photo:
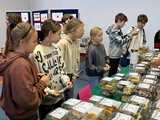
<svg viewBox="0 0 160 120">
<path fill-rule="evenodd" d="M 117 73 L 118 66 L 119 66 L 119 60 L 120 60 L 120 58 L 118 58 L 118 59 L 110 58 L 109 59 L 109 65 L 110 65 L 110 70 L 109 70 L 109 74 L 108 74 L 109 77 L 111 77 L 112 75 L 115 75 Z"/>
</svg>

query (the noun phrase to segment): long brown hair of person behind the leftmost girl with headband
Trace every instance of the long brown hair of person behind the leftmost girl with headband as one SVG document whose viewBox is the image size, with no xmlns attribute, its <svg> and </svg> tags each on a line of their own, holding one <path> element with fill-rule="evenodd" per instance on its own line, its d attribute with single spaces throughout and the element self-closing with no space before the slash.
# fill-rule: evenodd
<svg viewBox="0 0 160 120">
<path fill-rule="evenodd" d="M 19 15 L 16 14 L 9 14 L 7 15 L 7 33 L 6 33 L 6 43 L 5 43 L 5 50 L 4 54 L 7 54 L 9 51 L 13 51 L 12 43 L 11 43 L 11 31 L 12 29 L 20 22 L 22 22 L 22 19 Z"/>
</svg>

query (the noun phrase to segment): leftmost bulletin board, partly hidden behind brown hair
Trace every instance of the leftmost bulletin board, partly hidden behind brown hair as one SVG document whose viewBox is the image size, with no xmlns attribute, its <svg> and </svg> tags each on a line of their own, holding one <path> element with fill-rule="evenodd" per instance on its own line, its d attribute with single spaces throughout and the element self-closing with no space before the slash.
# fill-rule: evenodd
<svg viewBox="0 0 160 120">
<path fill-rule="evenodd" d="M 31 15 L 29 11 L 22 11 L 22 12 L 6 12 L 6 16 L 16 14 L 21 16 L 23 22 L 31 23 Z"/>
</svg>

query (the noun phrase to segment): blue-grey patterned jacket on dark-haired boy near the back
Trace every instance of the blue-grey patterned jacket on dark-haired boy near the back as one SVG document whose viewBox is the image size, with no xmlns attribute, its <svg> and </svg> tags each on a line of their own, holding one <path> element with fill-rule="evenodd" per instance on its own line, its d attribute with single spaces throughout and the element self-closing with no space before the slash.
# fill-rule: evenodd
<svg viewBox="0 0 160 120">
<path fill-rule="evenodd" d="M 118 59 L 122 55 L 123 45 L 132 38 L 131 33 L 123 35 L 121 29 L 117 29 L 115 25 L 109 26 L 106 33 L 109 36 L 109 57 Z"/>
</svg>

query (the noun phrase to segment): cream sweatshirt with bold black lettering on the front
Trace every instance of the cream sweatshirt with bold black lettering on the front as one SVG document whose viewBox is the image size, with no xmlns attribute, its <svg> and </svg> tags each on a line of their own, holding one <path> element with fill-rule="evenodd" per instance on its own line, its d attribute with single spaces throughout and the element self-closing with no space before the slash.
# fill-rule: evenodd
<svg viewBox="0 0 160 120">
<path fill-rule="evenodd" d="M 40 73 L 49 75 L 50 85 L 52 89 L 61 89 L 61 75 L 63 74 L 64 61 L 57 47 L 37 46 L 34 51 L 36 65 Z"/>
</svg>

